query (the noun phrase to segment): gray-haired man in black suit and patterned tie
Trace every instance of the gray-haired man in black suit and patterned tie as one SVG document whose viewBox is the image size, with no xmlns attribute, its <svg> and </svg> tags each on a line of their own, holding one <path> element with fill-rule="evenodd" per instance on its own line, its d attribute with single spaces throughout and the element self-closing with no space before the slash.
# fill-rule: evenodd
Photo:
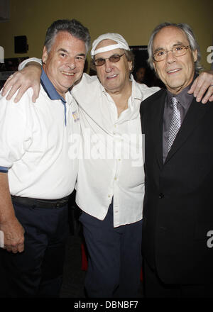
<svg viewBox="0 0 213 312">
<path fill-rule="evenodd" d="M 146 296 L 211 297 L 213 106 L 187 93 L 200 69 L 199 46 L 187 24 L 163 23 L 148 52 L 166 89 L 141 104 Z"/>
</svg>

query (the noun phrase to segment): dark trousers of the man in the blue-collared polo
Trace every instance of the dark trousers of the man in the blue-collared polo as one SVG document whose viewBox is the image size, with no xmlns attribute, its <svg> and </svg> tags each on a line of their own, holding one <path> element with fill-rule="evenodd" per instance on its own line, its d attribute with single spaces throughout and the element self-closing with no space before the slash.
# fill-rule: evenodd
<svg viewBox="0 0 213 312">
<path fill-rule="evenodd" d="M 68 233 L 67 205 L 33 208 L 13 204 L 25 230 L 25 249 L 0 250 L 1 297 L 58 297 Z"/>
</svg>

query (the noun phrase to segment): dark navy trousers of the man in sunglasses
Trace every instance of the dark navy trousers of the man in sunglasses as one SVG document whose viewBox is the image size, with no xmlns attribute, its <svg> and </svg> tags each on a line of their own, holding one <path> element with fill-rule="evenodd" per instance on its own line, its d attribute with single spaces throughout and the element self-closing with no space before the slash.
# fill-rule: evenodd
<svg viewBox="0 0 213 312">
<path fill-rule="evenodd" d="M 90 298 L 137 297 L 141 272 L 142 221 L 113 227 L 113 206 L 104 221 L 82 213 L 89 253 L 85 289 Z"/>
</svg>

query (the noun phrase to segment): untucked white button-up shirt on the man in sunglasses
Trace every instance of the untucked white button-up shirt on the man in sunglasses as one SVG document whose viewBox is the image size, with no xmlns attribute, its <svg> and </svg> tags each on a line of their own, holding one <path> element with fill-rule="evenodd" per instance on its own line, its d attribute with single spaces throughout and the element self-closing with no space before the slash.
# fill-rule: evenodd
<svg viewBox="0 0 213 312">
<path fill-rule="evenodd" d="M 139 108 L 141 101 L 159 90 L 131 79 L 129 108 L 119 118 L 116 104 L 96 76 L 83 74 L 72 88 L 82 130 L 76 202 L 82 211 L 104 220 L 113 198 L 114 227 L 142 218 L 144 171 Z"/>
</svg>

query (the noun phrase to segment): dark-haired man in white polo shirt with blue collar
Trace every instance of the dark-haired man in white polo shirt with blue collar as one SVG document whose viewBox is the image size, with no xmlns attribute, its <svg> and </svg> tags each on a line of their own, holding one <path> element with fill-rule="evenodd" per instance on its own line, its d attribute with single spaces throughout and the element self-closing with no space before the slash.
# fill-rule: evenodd
<svg viewBox="0 0 213 312">
<path fill-rule="evenodd" d="M 80 22 L 55 21 L 45 37 L 36 105 L 32 89 L 19 104 L 1 96 L 0 230 L 6 249 L 1 250 L 1 296 L 60 294 L 67 201 L 77 177 L 70 137 L 80 133 L 68 89 L 82 76 L 89 43 Z"/>
</svg>

